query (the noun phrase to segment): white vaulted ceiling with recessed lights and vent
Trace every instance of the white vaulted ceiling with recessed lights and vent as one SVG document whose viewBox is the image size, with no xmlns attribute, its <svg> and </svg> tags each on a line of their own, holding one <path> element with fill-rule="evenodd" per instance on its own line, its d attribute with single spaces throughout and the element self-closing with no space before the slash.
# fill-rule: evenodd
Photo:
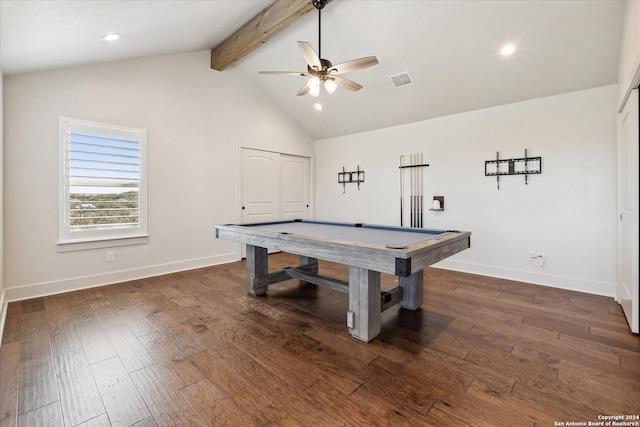
<svg viewBox="0 0 640 427">
<path fill-rule="evenodd" d="M 24 73 L 133 57 L 209 50 L 271 0 L 2 0 L 0 66 Z M 345 74 L 364 86 L 318 100 L 297 40 L 318 50 L 311 13 L 222 72 L 240 72 L 314 139 L 562 94 L 617 81 L 624 1 L 334 0 L 322 12 L 322 56 L 334 64 L 375 55 Z M 101 36 L 118 32 L 107 44 Z M 504 43 L 516 53 L 502 57 Z M 394 88 L 407 71 L 414 84 Z M 212 73 L 219 71 L 211 70 Z"/>
</svg>

